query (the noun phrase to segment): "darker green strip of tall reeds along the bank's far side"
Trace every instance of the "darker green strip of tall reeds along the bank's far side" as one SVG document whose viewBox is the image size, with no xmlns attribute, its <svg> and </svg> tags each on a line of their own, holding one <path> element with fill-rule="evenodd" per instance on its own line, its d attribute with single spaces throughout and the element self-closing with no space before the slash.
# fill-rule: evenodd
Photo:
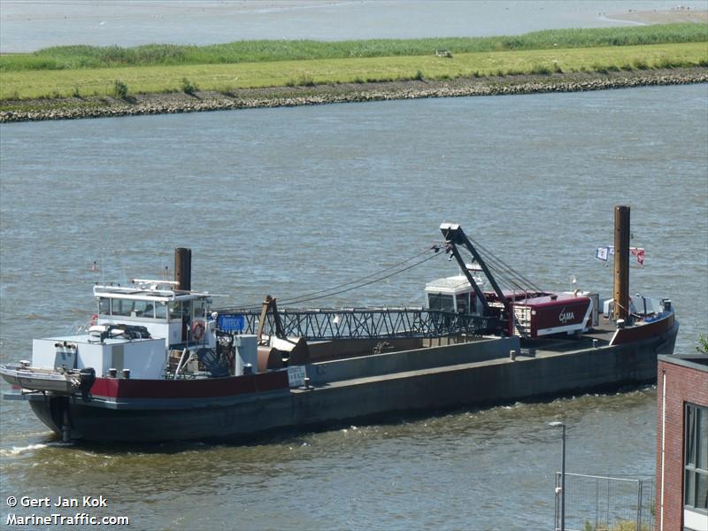
<svg viewBox="0 0 708 531">
<path fill-rule="evenodd" d="M 0 72 L 411 57 L 434 55 L 435 50 L 449 50 L 453 55 L 458 55 L 489 51 L 598 48 L 707 41 L 708 26 L 684 23 L 639 27 L 553 29 L 526 35 L 498 37 L 345 42 L 244 41 L 210 46 L 150 44 L 135 48 L 61 46 L 30 54 L 0 57 Z"/>
</svg>

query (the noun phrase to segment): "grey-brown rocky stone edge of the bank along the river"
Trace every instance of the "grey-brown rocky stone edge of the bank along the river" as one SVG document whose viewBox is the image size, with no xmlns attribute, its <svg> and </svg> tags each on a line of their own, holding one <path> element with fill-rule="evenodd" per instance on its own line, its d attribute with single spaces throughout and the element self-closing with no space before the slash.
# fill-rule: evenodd
<svg viewBox="0 0 708 531">
<path fill-rule="evenodd" d="M 450 81 L 395 81 L 314 87 L 242 89 L 228 95 L 216 92 L 199 92 L 195 96 L 189 96 L 180 92 L 135 96 L 131 97 L 129 101 L 108 97 L 4 101 L 2 102 L 4 111 L 0 112 L 0 122 L 224 111 L 424 97 L 579 92 L 705 82 L 708 82 L 708 68 L 697 67 L 606 74 L 554 73 L 551 75 L 461 78 Z"/>
</svg>

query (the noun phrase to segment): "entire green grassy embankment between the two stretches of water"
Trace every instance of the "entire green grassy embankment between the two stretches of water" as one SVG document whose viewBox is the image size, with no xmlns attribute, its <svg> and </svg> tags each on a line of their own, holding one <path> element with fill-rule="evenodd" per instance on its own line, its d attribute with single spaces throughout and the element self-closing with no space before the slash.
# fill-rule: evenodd
<svg viewBox="0 0 708 531">
<path fill-rule="evenodd" d="M 681 74 L 666 81 L 666 73 L 671 72 Z M 602 87 L 654 84 L 658 78 L 665 80 L 661 84 L 703 82 L 705 73 L 708 24 L 704 23 L 407 41 L 261 41 L 130 49 L 69 46 L 0 57 L 0 121 L 20 116 L 42 119 L 45 114 L 55 118 L 112 115 L 108 109 L 116 107 L 120 114 L 129 114 L 134 112 L 126 105 L 135 107 L 147 100 L 152 103 L 146 112 L 185 112 L 272 106 L 275 101 L 365 101 L 362 93 L 376 93 L 387 84 L 396 88 L 385 89 L 386 98 L 396 93 L 418 97 L 409 89 L 434 97 L 446 94 L 445 90 L 430 92 L 427 84 L 438 88 L 462 84 L 466 89 L 461 94 L 476 94 L 471 88 L 475 84 L 519 90 L 532 77 L 533 83 L 521 90 L 528 93 L 536 91 L 534 87 L 545 91 L 553 83 L 562 90 L 582 89 L 586 81 L 603 81 L 612 75 L 628 81 L 605 80 Z M 484 89 L 481 93 L 504 92 Z M 181 98 L 173 97 L 177 95 Z M 172 103 L 155 104 L 156 98 L 172 98 Z M 191 103 L 204 98 L 222 99 L 211 105 Z"/>
</svg>

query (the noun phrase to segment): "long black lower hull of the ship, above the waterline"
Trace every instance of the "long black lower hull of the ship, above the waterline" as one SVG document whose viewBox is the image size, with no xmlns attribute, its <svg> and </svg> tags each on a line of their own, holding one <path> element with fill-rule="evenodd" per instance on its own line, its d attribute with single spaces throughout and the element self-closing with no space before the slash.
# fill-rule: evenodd
<svg viewBox="0 0 708 531">
<path fill-rule="evenodd" d="M 515 360 L 496 356 L 366 378 L 313 379 L 312 390 L 283 389 L 236 400 L 220 397 L 190 404 L 178 399 L 154 406 L 142 401 L 116 408 L 96 401 L 87 404 L 77 396 L 68 405 L 71 437 L 111 443 L 234 440 L 273 430 L 380 418 L 392 412 L 439 411 L 620 389 L 656 381 L 657 356 L 673 353 L 678 327 L 676 322 L 661 335 L 601 349 L 587 348 L 584 343 L 581 350 L 536 350 Z M 28 399 L 37 417 L 61 435 L 64 406 L 56 402 L 58 398 L 35 395 Z"/>
</svg>

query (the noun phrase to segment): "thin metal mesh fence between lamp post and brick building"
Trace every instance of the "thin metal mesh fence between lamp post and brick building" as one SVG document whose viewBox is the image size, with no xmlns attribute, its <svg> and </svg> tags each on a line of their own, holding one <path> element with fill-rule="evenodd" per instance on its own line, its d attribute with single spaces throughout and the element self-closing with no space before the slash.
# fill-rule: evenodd
<svg viewBox="0 0 708 531">
<path fill-rule="evenodd" d="M 560 529 L 561 473 L 556 473 L 555 529 Z M 654 481 L 566 473 L 566 531 L 653 531 Z"/>
</svg>

